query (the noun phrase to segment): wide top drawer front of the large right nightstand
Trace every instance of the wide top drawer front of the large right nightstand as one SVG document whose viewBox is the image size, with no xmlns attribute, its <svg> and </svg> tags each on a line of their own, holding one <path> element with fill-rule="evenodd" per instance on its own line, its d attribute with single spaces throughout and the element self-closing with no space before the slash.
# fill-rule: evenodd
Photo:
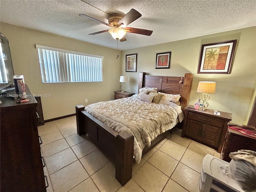
<svg viewBox="0 0 256 192">
<path fill-rule="evenodd" d="M 188 112 L 188 118 L 192 119 L 192 120 L 199 121 L 199 122 L 203 122 L 206 124 L 210 124 L 213 126 L 218 126 L 218 127 L 222 127 L 224 124 L 224 121 L 222 121 L 220 119 L 209 117 L 207 115 L 193 113 L 193 112 Z"/>
</svg>

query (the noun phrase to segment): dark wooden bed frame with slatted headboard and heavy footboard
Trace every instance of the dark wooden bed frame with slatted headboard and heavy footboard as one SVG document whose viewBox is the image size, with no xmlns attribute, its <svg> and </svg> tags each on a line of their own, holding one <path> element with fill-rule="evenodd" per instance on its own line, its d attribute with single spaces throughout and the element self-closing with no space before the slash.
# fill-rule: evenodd
<svg viewBox="0 0 256 192">
<path fill-rule="evenodd" d="M 184 74 L 184 77 L 166 77 L 150 76 L 146 75 L 145 72 L 140 72 L 138 90 L 143 87 L 157 88 L 158 92 L 167 94 L 180 94 L 181 110 L 184 112 L 184 108 L 188 105 L 189 102 L 192 79 L 193 74 L 188 73 Z M 115 101 L 122 104 L 122 102 L 124 102 L 124 100 L 126 99 L 129 100 L 129 102 L 131 102 L 132 100 L 136 100 L 134 96 L 134 98 L 124 98 L 119 101 Z M 107 103 L 112 104 L 112 102 L 114 101 L 110 101 Z M 106 108 L 109 107 L 110 106 L 106 106 Z M 112 129 L 114 125 L 112 126 L 111 123 L 108 124 L 112 126 L 110 128 L 103 123 L 104 119 L 93 114 L 90 110 L 91 109 L 88 109 L 88 107 L 85 110 L 85 106 L 83 105 L 76 106 L 77 132 L 79 135 L 87 134 L 106 154 L 108 154 L 108 156 L 114 158 L 116 162 L 116 179 L 120 182 L 120 184 L 122 184 L 122 186 L 124 186 L 132 178 L 134 146 L 135 142 L 137 142 L 138 139 L 136 139 L 136 137 L 134 137 L 134 134 L 130 132 L 116 132 Z M 102 122 L 96 117 L 92 116 L 89 112 L 102 120 Z M 176 116 L 176 118 L 177 117 L 178 115 Z M 172 127 L 176 125 L 177 122 L 171 122 Z M 165 135 L 165 133 L 162 133 L 161 131 L 158 134 L 159 135 L 156 138 L 153 137 L 154 140 L 148 139 L 148 143 L 150 143 L 151 145 L 148 146 L 145 144 L 143 152 L 156 144 Z M 140 159 L 137 158 L 136 162 L 139 161 Z"/>
</svg>

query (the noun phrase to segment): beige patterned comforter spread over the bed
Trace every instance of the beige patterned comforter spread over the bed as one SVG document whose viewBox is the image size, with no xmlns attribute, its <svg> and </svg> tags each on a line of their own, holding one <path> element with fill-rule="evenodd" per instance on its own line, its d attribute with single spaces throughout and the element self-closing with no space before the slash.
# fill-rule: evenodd
<svg viewBox="0 0 256 192">
<path fill-rule="evenodd" d="M 174 108 L 180 113 L 180 106 Z M 90 104 L 85 110 L 116 132 L 134 135 L 134 158 L 139 163 L 145 145 L 150 146 L 156 136 L 177 124 L 178 112 L 174 108 L 168 104 L 142 102 L 134 95 Z"/>
</svg>

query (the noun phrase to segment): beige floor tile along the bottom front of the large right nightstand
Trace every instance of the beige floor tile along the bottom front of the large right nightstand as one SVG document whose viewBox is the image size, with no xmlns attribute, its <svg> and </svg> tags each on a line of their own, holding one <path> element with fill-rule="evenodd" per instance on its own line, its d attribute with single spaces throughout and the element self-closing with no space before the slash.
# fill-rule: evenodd
<svg viewBox="0 0 256 192">
<path fill-rule="evenodd" d="M 189 146 L 188 146 L 188 151 L 198 155 L 198 156 L 201 156 L 202 158 L 204 158 L 204 156 L 206 156 L 206 154 L 210 154 L 210 155 L 213 155 L 215 150 L 208 147 L 208 146 L 205 146 L 203 144 L 200 144 L 198 142 L 195 142 L 195 141 L 192 141 Z"/>
</svg>

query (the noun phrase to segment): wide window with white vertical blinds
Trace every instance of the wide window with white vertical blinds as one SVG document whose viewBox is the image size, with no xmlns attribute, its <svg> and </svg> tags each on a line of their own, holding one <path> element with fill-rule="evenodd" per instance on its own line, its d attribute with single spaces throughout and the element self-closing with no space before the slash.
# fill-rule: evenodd
<svg viewBox="0 0 256 192">
<path fill-rule="evenodd" d="M 102 82 L 103 56 L 36 45 L 43 83 Z"/>
</svg>

